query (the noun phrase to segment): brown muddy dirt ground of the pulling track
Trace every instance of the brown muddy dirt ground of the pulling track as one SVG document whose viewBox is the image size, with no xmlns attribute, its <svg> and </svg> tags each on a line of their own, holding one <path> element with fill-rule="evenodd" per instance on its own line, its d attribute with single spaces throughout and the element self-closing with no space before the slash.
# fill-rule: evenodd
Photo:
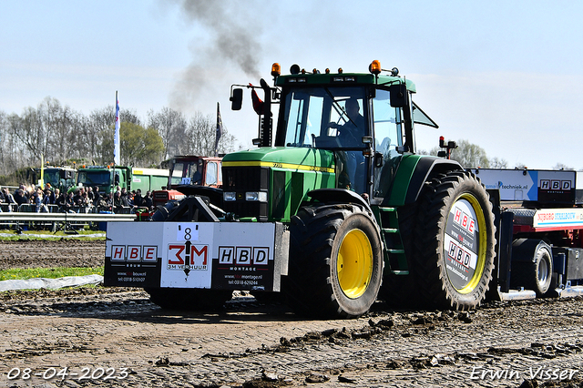
<svg viewBox="0 0 583 388">
<path fill-rule="evenodd" d="M 100 266 L 104 242 L 0 241 L 0 268 Z M 0 386 L 583 386 L 583 300 L 311 321 L 235 292 L 162 311 L 143 291 L 0 293 Z"/>
</svg>

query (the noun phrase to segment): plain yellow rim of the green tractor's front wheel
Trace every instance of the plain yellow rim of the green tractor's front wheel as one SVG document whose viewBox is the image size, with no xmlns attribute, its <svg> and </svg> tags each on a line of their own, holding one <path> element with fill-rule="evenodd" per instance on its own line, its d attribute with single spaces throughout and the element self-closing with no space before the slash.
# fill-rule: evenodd
<svg viewBox="0 0 583 388">
<path fill-rule="evenodd" d="M 340 244 L 336 260 L 338 282 L 344 295 L 363 295 L 373 276 L 373 247 L 362 230 L 350 230 Z"/>
</svg>

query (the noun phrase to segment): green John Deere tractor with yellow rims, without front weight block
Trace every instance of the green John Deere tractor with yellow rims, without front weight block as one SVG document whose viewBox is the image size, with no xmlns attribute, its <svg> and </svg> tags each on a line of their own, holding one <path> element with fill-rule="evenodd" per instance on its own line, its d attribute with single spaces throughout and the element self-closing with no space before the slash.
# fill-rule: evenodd
<svg viewBox="0 0 583 388">
<path fill-rule="evenodd" d="M 437 126 L 414 104 L 414 83 L 378 61 L 369 73 L 294 65 L 281 76 L 274 64 L 271 75 L 273 87 L 231 87 L 235 110 L 251 89 L 258 148 L 223 158 L 220 206 L 237 220 L 289 227 L 281 292 L 294 310 L 352 317 L 377 297 L 458 310 L 483 301 L 492 204 L 457 162 L 415 155 L 414 126 Z"/>
</svg>

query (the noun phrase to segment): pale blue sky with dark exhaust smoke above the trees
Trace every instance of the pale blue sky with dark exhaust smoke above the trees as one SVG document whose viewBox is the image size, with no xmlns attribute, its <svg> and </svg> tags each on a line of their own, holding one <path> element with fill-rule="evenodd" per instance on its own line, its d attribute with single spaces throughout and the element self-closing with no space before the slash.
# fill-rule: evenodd
<svg viewBox="0 0 583 388">
<path fill-rule="evenodd" d="M 23 0 L 0 3 L 0 111 L 54 97 L 88 115 L 113 106 L 144 121 L 171 107 L 214 117 L 241 147 L 257 137 L 246 92 L 306 69 L 367 72 L 373 59 L 413 80 L 439 128 L 418 148 L 465 139 L 509 168 L 583 169 L 583 2 L 361 0 Z"/>
</svg>

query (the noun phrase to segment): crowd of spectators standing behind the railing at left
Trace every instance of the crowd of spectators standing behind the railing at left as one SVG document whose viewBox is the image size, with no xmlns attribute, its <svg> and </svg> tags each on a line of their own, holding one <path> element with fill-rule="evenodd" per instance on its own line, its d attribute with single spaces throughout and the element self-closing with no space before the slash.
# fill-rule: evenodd
<svg viewBox="0 0 583 388">
<path fill-rule="evenodd" d="M 124 209 L 137 210 L 154 209 L 152 193 L 148 190 L 142 197 L 141 189 L 127 191 L 126 188 L 117 187 L 115 193 L 99 193 L 97 186 L 77 187 L 61 192 L 60 189 L 52 188 L 47 183 L 44 189 L 41 187 L 27 188 L 25 184 L 10 192 L 8 188 L 0 188 L 0 205 L 13 205 L 20 208 L 21 205 L 33 205 L 33 211 L 49 211 L 48 205 L 56 205 L 58 211 L 66 212 L 92 212 L 92 209 L 109 210 L 115 213 Z M 14 206 L 15 205 L 15 206 Z M 5 209 L 13 209 L 8 206 Z M 0 208 L 0 211 L 2 209 Z"/>
</svg>

